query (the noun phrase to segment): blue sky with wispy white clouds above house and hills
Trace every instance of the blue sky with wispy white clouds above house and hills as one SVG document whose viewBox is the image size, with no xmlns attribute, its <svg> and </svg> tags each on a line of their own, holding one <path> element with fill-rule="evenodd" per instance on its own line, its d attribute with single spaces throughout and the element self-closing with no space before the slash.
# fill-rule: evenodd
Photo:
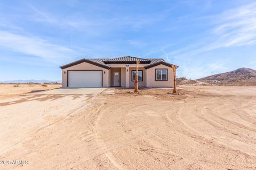
<svg viewBox="0 0 256 170">
<path fill-rule="evenodd" d="M 118 56 L 164 58 L 192 79 L 256 69 L 256 2 L 0 1 L 0 81 Z"/>
</svg>

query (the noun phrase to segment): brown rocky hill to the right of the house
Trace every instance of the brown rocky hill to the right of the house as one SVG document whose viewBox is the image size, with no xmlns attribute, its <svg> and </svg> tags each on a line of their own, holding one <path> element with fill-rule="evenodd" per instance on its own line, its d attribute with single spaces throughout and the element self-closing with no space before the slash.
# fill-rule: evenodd
<svg viewBox="0 0 256 170">
<path fill-rule="evenodd" d="M 241 68 L 197 79 L 197 81 L 219 83 L 228 86 L 256 86 L 256 70 Z"/>
</svg>

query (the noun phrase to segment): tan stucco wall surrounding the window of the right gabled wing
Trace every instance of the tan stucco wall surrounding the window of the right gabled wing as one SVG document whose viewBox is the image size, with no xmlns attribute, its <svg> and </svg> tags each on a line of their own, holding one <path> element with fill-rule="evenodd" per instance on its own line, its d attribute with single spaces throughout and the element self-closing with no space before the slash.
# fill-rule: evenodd
<svg viewBox="0 0 256 170">
<path fill-rule="evenodd" d="M 155 80 L 155 69 L 167 69 L 167 79 L 168 81 L 156 81 Z M 157 65 L 146 70 L 147 74 L 147 83 L 146 87 L 173 87 L 173 71 L 171 67 L 165 65 Z"/>
</svg>

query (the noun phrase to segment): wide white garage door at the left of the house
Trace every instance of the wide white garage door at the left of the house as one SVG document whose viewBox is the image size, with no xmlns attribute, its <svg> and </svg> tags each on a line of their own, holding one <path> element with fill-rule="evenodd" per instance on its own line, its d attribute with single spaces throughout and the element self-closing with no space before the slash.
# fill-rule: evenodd
<svg viewBox="0 0 256 170">
<path fill-rule="evenodd" d="M 68 87 L 102 87 L 102 71 L 68 71 Z"/>
</svg>

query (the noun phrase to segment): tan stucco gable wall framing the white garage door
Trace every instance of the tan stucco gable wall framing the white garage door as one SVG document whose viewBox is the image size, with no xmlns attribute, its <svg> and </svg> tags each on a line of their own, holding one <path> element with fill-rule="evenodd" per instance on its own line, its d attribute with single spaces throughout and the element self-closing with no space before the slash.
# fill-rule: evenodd
<svg viewBox="0 0 256 170">
<path fill-rule="evenodd" d="M 62 69 L 62 87 L 67 87 L 68 70 L 102 70 L 102 85 L 103 87 L 110 87 L 110 71 L 86 62 Z"/>
</svg>

